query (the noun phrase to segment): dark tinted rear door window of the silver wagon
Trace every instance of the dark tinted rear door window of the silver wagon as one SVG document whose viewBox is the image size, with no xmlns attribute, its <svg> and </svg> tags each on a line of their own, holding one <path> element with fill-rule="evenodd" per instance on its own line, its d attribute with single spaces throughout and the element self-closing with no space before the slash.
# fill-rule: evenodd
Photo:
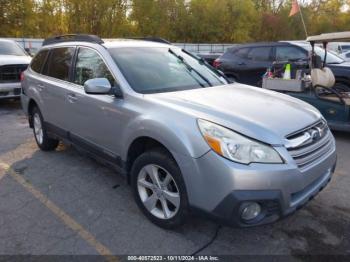
<svg viewBox="0 0 350 262">
<path fill-rule="evenodd" d="M 74 47 L 54 48 L 50 52 L 46 75 L 68 81 Z"/>
</svg>

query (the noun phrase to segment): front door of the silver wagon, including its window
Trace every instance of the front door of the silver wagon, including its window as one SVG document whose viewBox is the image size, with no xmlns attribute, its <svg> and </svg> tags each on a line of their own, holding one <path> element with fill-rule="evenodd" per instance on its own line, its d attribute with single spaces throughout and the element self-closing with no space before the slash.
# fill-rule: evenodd
<svg viewBox="0 0 350 262">
<path fill-rule="evenodd" d="M 75 88 L 70 94 L 71 139 L 97 154 L 104 153 L 112 161 L 118 160 L 124 101 L 113 95 L 86 94 L 84 83 L 93 78 L 107 78 L 112 86 L 117 85 L 99 53 L 80 47 L 73 76 Z"/>
</svg>

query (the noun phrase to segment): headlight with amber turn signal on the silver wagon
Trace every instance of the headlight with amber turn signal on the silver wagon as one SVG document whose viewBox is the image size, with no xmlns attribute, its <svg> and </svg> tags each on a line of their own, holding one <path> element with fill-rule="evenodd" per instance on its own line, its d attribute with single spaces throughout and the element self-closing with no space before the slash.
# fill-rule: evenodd
<svg viewBox="0 0 350 262">
<path fill-rule="evenodd" d="M 211 149 L 225 158 L 243 164 L 283 163 L 280 155 L 269 145 L 206 120 L 198 119 L 198 126 Z"/>
</svg>

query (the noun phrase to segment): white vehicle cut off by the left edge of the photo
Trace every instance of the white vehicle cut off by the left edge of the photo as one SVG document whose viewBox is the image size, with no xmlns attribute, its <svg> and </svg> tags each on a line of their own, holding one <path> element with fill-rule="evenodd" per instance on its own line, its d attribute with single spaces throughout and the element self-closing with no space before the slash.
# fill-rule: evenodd
<svg viewBox="0 0 350 262">
<path fill-rule="evenodd" d="M 0 99 L 21 96 L 21 73 L 31 57 L 13 40 L 0 39 Z"/>
</svg>

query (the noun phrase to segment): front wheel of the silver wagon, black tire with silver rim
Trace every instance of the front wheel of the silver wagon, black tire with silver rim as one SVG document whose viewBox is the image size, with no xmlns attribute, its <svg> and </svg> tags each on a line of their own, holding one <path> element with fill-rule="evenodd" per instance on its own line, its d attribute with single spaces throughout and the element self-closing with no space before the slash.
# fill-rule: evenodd
<svg viewBox="0 0 350 262">
<path fill-rule="evenodd" d="M 188 215 L 188 200 L 180 168 L 166 150 L 156 149 L 139 156 L 131 169 L 135 201 L 154 224 L 171 229 Z"/>
</svg>

